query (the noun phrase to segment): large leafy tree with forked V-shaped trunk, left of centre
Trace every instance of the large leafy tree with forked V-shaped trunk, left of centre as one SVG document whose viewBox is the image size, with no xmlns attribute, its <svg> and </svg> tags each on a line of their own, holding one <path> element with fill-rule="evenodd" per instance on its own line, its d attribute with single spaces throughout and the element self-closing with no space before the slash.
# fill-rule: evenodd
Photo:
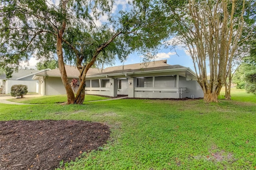
<svg viewBox="0 0 256 170">
<path fill-rule="evenodd" d="M 0 8 L 0 66 L 5 71 L 18 67 L 21 61 L 35 55 L 58 56 L 67 103 L 84 101 L 88 69 L 101 53 L 112 53 L 121 60 L 132 50 L 148 51 L 166 37 L 163 15 L 154 2 L 134 0 L 130 9 L 112 15 L 113 0 L 60 0 L 58 5 L 47 0 L 3 0 Z M 97 26 L 100 16 L 108 20 Z M 157 23 L 157 24 L 156 24 Z M 152 29 L 154 27 L 154 29 Z M 75 63 L 80 71 L 76 97 L 70 87 L 64 63 Z"/>
</svg>

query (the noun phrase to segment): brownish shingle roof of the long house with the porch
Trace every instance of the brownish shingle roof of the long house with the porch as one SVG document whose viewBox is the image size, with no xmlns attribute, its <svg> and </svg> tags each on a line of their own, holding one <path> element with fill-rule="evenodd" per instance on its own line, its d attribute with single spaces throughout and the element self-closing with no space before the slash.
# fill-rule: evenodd
<svg viewBox="0 0 256 170">
<path fill-rule="evenodd" d="M 66 73 L 69 78 L 77 78 L 79 71 L 76 66 L 65 65 Z M 192 75 L 195 73 L 188 67 L 183 67 L 181 65 L 169 65 L 167 60 L 152 61 L 148 63 L 136 63 L 129 65 L 120 65 L 114 67 L 107 67 L 102 73 L 98 72 L 96 68 L 90 68 L 86 74 L 87 78 L 90 77 L 107 77 L 107 75 L 121 75 L 125 73 L 142 73 L 142 72 L 157 72 L 157 71 L 189 71 Z M 46 71 L 43 73 L 36 74 L 33 79 L 37 79 L 37 76 L 50 76 L 50 77 L 60 77 L 59 69 L 54 69 Z"/>
</svg>

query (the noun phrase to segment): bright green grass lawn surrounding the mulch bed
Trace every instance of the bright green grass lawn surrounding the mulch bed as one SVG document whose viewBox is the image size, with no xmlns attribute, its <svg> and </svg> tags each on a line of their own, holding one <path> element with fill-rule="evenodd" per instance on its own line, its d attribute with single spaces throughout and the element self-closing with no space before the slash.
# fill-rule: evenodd
<svg viewBox="0 0 256 170">
<path fill-rule="evenodd" d="M 107 123 L 108 144 L 84 153 L 65 170 L 254 170 L 256 95 L 233 96 L 219 103 L 120 99 L 64 106 L 55 103 L 60 97 L 38 97 L 26 102 L 43 104 L 0 104 L 0 119 Z"/>
</svg>

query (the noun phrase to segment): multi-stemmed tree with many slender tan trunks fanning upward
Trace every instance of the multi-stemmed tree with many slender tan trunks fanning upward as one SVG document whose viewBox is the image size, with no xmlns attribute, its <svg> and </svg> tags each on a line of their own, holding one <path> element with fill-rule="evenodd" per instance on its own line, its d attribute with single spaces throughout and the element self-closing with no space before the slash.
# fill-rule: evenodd
<svg viewBox="0 0 256 170">
<path fill-rule="evenodd" d="M 180 5 L 175 6 L 176 3 Z M 234 54 L 255 28 L 255 2 L 162 0 L 162 4 L 166 16 L 172 20 L 173 38 L 192 57 L 204 101 L 216 102 L 231 73 Z"/>
</svg>

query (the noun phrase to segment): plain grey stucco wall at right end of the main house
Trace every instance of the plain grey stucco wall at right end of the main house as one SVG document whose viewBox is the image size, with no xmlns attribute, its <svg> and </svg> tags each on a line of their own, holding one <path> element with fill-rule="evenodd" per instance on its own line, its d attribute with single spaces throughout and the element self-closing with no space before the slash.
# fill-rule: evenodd
<svg viewBox="0 0 256 170">
<path fill-rule="evenodd" d="M 186 87 L 186 91 L 188 91 L 182 93 L 182 97 L 191 98 L 191 95 L 194 95 L 194 98 L 204 97 L 202 88 L 196 80 L 186 81 L 186 77 L 180 77 L 179 86 Z"/>
</svg>

